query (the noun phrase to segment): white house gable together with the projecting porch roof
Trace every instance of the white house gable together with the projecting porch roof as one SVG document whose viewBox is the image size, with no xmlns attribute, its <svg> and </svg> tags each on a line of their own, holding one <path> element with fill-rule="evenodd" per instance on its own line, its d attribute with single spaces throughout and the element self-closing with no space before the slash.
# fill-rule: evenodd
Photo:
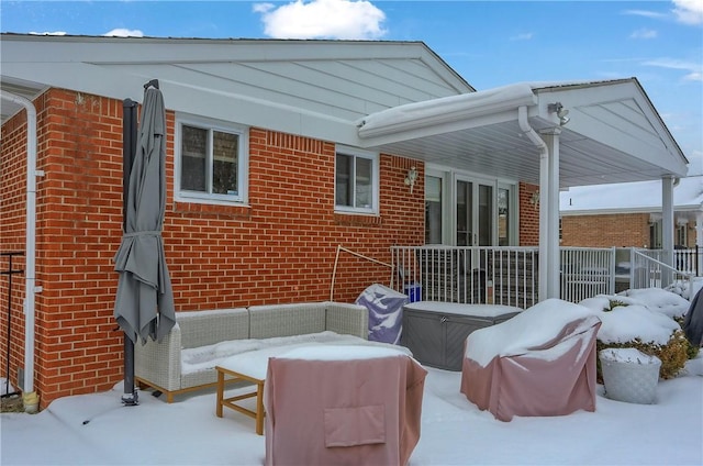
<svg viewBox="0 0 703 466">
<path fill-rule="evenodd" d="M 159 78 L 161 89 L 168 92 L 169 108 L 176 111 L 536 185 L 539 151 L 521 130 L 518 109 L 524 107 L 536 132 L 560 130 L 562 188 L 687 174 L 685 156 L 636 78 L 525 82 L 475 92 L 422 43 L 11 34 L 2 38 L 2 91 L 30 100 L 49 87 L 134 97 L 142 84 Z M 301 98 L 295 87 L 286 92 L 291 81 L 288 73 L 313 73 L 319 59 L 347 64 L 342 70 L 334 69 L 338 76 L 334 75 L 332 87 L 324 89 L 326 100 L 320 97 L 320 89 L 305 89 L 306 98 Z M 378 76 L 394 70 L 392 79 L 375 80 L 378 76 L 373 73 L 380 71 L 372 66 L 381 60 L 386 65 Z M 358 63 L 369 65 L 359 71 L 352 67 Z M 400 64 L 406 68 L 393 68 Z M 358 92 L 366 88 L 357 89 L 352 98 L 339 81 L 349 69 L 364 73 L 369 82 L 392 84 L 392 89 L 366 91 L 362 97 Z M 411 70 L 415 71 L 412 76 Z M 294 80 L 298 86 L 308 76 L 304 73 Z M 314 73 L 332 76 L 328 68 Z M 264 76 L 269 86 L 266 89 Z M 399 87 L 409 93 L 406 99 L 393 91 Z M 549 111 L 549 104 L 556 102 L 569 110 L 567 125 L 560 126 L 558 116 Z M 0 109 L 3 122 L 20 110 L 7 100 Z"/>
</svg>

